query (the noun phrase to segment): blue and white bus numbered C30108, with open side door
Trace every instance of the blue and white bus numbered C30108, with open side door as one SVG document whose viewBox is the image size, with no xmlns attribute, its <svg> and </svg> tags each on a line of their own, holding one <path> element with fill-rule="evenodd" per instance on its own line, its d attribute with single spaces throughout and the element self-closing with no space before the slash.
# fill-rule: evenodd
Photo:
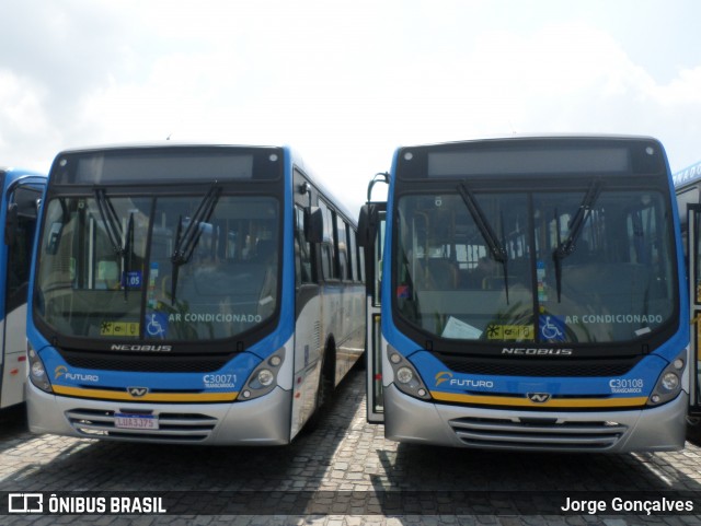
<svg viewBox="0 0 701 526">
<path fill-rule="evenodd" d="M 688 299 L 658 141 L 400 148 L 388 182 L 387 203 L 366 204 L 358 227 L 374 316 L 368 419 L 388 439 L 685 446 Z"/>
</svg>

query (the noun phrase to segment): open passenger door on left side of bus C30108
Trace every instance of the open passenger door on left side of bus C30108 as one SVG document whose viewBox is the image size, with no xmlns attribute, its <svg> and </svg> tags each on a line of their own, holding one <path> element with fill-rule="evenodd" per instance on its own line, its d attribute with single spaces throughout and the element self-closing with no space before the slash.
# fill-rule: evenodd
<svg viewBox="0 0 701 526">
<path fill-rule="evenodd" d="M 380 282 L 382 249 L 384 247 L 384 202 L 365 204 L 358 220 L 358 243 L 365 254 L 366 287 L 366 360 L 367 419 L 369 423 L 384 422 L 382 397 L 382 330 L 380 323 Z"/>
</svg>

